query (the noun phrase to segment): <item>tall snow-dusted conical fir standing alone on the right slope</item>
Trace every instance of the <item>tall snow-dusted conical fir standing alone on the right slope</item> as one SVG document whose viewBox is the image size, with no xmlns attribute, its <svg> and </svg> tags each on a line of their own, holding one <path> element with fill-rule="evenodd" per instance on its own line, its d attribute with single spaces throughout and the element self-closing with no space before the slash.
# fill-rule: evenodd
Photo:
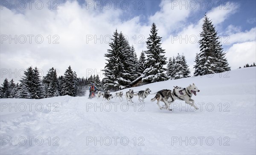
<svg viewBox="0 0 256 155">
<path fill-rule="evenodd" d="M 207 17 L 207 14 L 204 15 L 203 22 L 203 31 L 200 33 L 201 39 L 199 40 L 200 53 L 195 58 L 194 76 L 221 73 L 230 70 L 215 27 Z"/>
</svg>

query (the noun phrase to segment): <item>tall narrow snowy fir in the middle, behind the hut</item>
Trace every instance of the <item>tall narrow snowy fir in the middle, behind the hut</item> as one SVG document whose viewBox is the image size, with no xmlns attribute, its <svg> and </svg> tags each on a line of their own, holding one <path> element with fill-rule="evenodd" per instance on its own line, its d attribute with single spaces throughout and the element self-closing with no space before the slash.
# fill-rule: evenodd
<svg viewBox="0 0 256 155">
<path fill-rule="evenodd" d="M 165 50 L 161 48 L 162 37 L 157 36 L 157 27 L 155 23 L 151 25 L 151 34 L 149 34 L 148 40 L 146 41 L 148 50 L 145 51 L 147 54 L 146 69 L 144 70 L 143 82 L 160 82 L 167 80 L 165 68 L 166 57 L 164 56 Z"/>
</svg>

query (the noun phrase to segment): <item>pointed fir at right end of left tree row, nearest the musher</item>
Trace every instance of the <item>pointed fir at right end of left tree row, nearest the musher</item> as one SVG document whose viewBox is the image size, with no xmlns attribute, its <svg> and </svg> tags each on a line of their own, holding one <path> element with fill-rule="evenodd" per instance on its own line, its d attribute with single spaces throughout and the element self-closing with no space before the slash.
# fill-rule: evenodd
<svg viewBox="0 0 256 155">
<path fill-rule="evenodd" d="M 64 73 L 62 84 L 62 95 L 77 96 L 78 94 L 78 79 L 76 72 L 73 72 L 71 67 Z"/>
</svg>

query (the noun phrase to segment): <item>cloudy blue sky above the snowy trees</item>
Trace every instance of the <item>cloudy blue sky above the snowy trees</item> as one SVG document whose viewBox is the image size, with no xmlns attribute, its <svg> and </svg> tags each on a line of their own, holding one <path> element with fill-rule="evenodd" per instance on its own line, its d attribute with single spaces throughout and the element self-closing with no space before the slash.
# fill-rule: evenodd
<svg viewBox="0 0 256 155">
<path fill-rule="evenodd" d="M 71 65 L 79 77 L 99 73 L 102 78 L 104 54 L 115 29 L 127 35 L 139 56 L 146 50 L 145 41 L 153 22 L 163 37 L 166 57 L 184 54 L 193 69 L 205 13 L 221 37 L 232 70 L 256 62 L 255 0 L 34 1 L 31 8 L 26 4 L 22 9 L 25 1 L 13 0 L 12 4 L 17 2 L 16 9 L 10 8 L 10 2 L 1 0 L 0 4 L 1 83 L 5 78 L 18 82 L 21 73 L 12 72 L 29 66 L 41 69 L 42 76 L 54 67 L 60 76 Z M 41 3 L 44 7 L 38 9 Z M 16 40 L 11 39 L 15 36 Z M 29 36 L 34 37 L 31 42 Z"/>
</svg>

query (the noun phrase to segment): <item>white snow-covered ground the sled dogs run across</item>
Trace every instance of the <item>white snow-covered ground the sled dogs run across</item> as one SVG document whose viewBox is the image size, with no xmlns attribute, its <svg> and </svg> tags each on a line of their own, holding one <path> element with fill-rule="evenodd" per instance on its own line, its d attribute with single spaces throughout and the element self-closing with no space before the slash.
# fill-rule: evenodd
<svg viewBox="0 0 256 155">
<path fill-rule="evenodd" d="M 60 96 L 1 99 L 1 154 L 256 154 L 256 68 L 135 87 L 195 83 L 199 110 Z M 125 92 L 126 90 L 124 90 Z M 125 97 L 124 97 L 125 99 Z"/>
</svg>

